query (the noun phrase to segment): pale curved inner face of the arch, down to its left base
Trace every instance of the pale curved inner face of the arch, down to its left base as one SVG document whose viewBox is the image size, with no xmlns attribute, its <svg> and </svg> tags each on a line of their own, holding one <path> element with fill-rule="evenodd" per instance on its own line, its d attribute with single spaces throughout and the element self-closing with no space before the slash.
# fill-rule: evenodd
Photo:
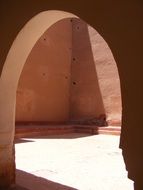
<svg viewBox="0 0 143 190">
<path fill-rule="evenodd" d="M 11 184 L 14 180 L 14 154 L 12 154 L 12 150 L 15 126 L 15 97 L 18 80 L 25 61 L 37 40 L 50 26 L 64 18 L 75 17 L 76 16 L 73 14 L 62 11 L 47 11 L 40 13 L 25 25 L 9 51 L 2 71 L 0 84 L 0 114 L 2 116 L 0 124 L 5 126 L 5 128 L 1 130 L 4 139 L 2 158 L 4 160 L 6 156 L 8 159 L 8 161 L 6 160 L 3 164 L 3 170 L 0 171 L 2 176 L 8 176 L 7 179 L 3 177 L 4 184 Z"/>
</svg>

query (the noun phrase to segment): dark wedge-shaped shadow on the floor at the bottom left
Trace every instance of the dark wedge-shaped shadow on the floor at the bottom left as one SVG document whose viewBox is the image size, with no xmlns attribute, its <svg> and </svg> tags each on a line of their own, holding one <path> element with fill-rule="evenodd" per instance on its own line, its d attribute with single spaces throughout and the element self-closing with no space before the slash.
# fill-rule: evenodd
<svg viewBox="0 0 143 190">
<path fill-rule="evenodd" d="M 16 183 L 12 190 L 78 190 L 21 170 L 16 170 Z"/>
</svg>

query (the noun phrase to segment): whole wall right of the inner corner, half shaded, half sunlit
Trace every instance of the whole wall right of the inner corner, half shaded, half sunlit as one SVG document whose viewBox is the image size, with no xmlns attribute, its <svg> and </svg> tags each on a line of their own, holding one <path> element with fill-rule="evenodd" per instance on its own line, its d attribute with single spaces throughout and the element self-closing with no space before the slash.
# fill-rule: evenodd
<svg viewBox="0 0 143 190">
<path fill-rule="evenodd" d="M 121 124 L 121 92 L 117 65 L 99 33 L 73 19 L 71 119 L 106 115 L 109 125 Z"/>
</svg>

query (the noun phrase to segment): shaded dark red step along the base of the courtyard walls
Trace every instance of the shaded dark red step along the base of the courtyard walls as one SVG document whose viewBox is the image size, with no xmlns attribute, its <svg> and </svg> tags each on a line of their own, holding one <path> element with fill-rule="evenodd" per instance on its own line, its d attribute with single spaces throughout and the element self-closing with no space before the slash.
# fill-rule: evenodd
<svg viewBox="0 0 143 190">
<path fill-rule="evenodd" d="M 74 139 L 98 134 L 98 127 L 91 125 L 16 125 L 15 139 Z"/>
</svg>

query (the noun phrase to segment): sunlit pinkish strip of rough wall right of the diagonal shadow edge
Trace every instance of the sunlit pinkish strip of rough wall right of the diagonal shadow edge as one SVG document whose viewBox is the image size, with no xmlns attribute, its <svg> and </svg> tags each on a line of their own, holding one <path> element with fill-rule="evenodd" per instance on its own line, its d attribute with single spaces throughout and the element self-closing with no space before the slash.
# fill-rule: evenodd
<svg viewBox="0 0 143 190">
<path fill-rule="evenodd" d="M 89 25 L 88 32 L 108 124 L 120 125 L 122 102 L 117 64 L 101 35 Z"/>
</svg>

